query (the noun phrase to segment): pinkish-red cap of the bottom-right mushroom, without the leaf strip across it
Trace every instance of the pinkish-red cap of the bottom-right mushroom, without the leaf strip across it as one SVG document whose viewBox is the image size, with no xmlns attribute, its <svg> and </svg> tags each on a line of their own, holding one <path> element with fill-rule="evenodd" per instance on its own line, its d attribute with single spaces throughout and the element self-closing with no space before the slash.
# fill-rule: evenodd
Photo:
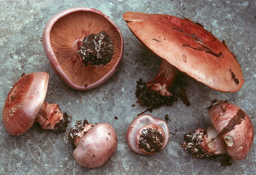
<svg viewBox="0 0 256 175">
<path fill-rule="evenodd" d="M 209 117 L 218 133 L 236 115 L 238 110 L 241 110 L 238 106 L 227 102 L 216 104 L 211 108 Z M 235 160 L 242 160 L 246 157 L 254 138 L 252 123 L 247 114 L 245 115 L 241 124 L 236 124 L 233 130 L 221 136 L 225 141 L 228 155 Z"/>
</svg>

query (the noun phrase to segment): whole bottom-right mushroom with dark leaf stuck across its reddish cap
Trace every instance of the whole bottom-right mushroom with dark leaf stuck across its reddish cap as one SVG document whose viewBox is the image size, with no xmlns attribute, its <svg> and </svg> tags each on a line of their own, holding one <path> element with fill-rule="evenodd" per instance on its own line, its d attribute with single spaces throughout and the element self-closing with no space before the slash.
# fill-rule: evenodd
<svg viewBox="0 0 256 175">
<path fill-rule="evenodd" d="M 238 106 L 216 99 L 207 109 L 212 125 L 185 134 L 187 143 L 182 147 L 194 157 L 228 154 L 234 160 L 245 158 L 254 137 L 248 115 Z"/>
</svg>

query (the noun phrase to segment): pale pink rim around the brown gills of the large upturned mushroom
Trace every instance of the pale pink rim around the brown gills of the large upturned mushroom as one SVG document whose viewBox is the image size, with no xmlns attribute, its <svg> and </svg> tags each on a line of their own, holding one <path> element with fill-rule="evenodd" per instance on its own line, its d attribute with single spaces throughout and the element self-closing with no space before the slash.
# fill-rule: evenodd
<svg viewBox="0 0 256 175">
<path fill-rule="evenodd" d="M 115 34 L 117 33 L 117 35 L 119 35 L 119 37 L 120 37 L 120 54 L 119 54 L 118 60 L 113 65 L 113 67 L 109 70 L 109 72 L 107 72 L 104 76 L 99 78 L 96 82 L 94 82 L 92 84 L 86 84 L 86 85 L 84 84 L 83 86 L 75 84 L 71 80 L 71 77 L 67 76 L 67 74 L 63 71 L 63 69 L 61 68 L 61 65 L 59 64 L 59 62 L 56 58 L 56 55 L 52 49 L 52 45 L 51 45 L 51 41 L 50 41 L 50 33 L 51 33 L 51 29 L 53 28 L 54 24 L 61 18 L 65 17 L 67 15 L 70 15 L 72 13 L 76 13 L 76 12 L 91 12 L 91 13 L 95 13 L 95 14 L 98 14 L 98 15 L 104 17 L 105 20 L 107 20 L 109 22 L 109 24 L 112 25 L 113 28 L 115 28 L 115 31 L 112 31 L 112 32 Z M 64 26 L 63 28 L 68 28 L 68 27 Z M 86 30 L 86 29 L 83 29 L 83 30 Z M 78 36 L 78 38 L 80 38 L 80 37 Z M 78 38 L 75 38 L 75 39 L 78 39 Z M 44 46 L 45 54 L 51 64 L 53 70 L 55 71 L 55 73 L 58 75 L 58 77 L 63 82 L 65 82 L 69 87 L 76 89 L 76 90 L 92 89 L 94 87 L 100 86 L 105 81 L 107 81 L 115 73 L 116 69 L 118 68 L 118 66 L 121 62 L 122 54 L 123 54 L 123 45 L 124 45 L 123 43 L 124 43 L 123 36 L 122 36 L 121 30 L 118 28 L 118 26 L 107 15 L 105 15 L 101 11 L 93 9 L 93 8 L 74 7 L 74 8 L 69 8 L 67 10 L 64 10 L 64 11 L 56 14 L 54 17 L 52 17 L 45 25 L 45 29 L 43 31 L 43 46 Z M 59 47 L 61 48 L 62 46 L 59 46 Z M 72 48 L 72 45 L 70 45 L 70 47 Z M 114 48 L 114 49 L 116 49 L 116 48 Z M 114 51 L 114 52 L 116 52 L 116 51 Z M 75 53 L 73 53 L 73 54 L 75 54 Z M 70 55 L 70 53 L 69 53 L 69 55 Z M 80 58 L 78 57 L 78 59 L 80 59 Z M 74 76 L 77 76 L 77 75 L 74 75 Z M 84 76 L 84 75 L 82 75 L 82 76 Z M 91 79 L 91 78 L 89 78 L 89 79 Z M 84 80 L 84 81 L 87 81 L 87 80 Z"/>
</svg>

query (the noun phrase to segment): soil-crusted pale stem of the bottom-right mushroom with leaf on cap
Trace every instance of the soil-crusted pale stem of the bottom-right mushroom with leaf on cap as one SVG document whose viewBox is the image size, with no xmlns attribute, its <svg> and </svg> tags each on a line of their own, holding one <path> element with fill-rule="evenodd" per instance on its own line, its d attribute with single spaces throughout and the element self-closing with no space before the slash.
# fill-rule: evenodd
<svg viewBox="0 0 256 175">
<path fill-rule="evenodd" d="M 184 135 L 187 143 L 181 146 L 193 157 L 205 158 L 213 155 L 227 154 L 225 141 L 217 137 L 218 132 L 210 125 L 207 129 L 196 129 Z M 214 140 L 211 140 L 213 139 Z"/>
</svg>

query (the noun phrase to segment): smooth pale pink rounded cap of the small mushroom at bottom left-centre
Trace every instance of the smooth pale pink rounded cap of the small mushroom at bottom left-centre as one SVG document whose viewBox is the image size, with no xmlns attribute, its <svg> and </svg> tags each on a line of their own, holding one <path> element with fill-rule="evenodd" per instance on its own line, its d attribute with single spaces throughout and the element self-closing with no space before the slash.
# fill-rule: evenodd
<svg viewBox="0 0 256 175">
<path fill-rule="evenodd" d="M 83 167 L 96 168 L 103 165 L 116 148 L 114 128 L 109 123 L 98 123 L 80 139 L 73 157 Z"/>
</svg>

